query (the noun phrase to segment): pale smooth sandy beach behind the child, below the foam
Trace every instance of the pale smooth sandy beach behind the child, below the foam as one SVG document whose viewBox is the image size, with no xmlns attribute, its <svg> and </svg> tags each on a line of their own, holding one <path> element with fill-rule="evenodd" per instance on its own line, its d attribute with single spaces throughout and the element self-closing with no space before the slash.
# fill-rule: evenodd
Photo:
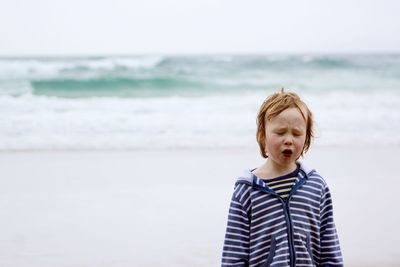
<svg viewBox="0 0 400 267">
<path fill-rule="evenodd" d="M 399 147 L 312 147 L 345 266 L 399 266 Z M 256 147 L 0 153 L 0 266 L 219 266 Z M 383 187 L 384 186 L 384 187 Z"/>
</svg>

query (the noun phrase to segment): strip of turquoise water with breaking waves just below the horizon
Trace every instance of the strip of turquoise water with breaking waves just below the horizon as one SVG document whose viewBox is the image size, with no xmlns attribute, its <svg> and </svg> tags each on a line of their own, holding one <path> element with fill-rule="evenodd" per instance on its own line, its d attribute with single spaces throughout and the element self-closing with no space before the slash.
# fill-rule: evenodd
<svg viewBox="0 0 400 267">
<path fill-rule="evenodd" d="M 0 59 L 0 93 L 154 97 L 296 90 L 398 90 L 399 55 Z M 10 89 L 11 87 L 11 89 Z"/>
</svg>

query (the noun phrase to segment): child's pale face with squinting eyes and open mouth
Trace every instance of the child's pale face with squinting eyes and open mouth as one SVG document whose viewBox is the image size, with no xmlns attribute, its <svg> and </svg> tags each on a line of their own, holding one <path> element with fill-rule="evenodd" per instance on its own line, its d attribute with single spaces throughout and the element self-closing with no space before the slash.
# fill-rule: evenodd
<svg viewBox="0 0 400 267">
<path fill-rule="evenodd" d="M 285 109 L 267 121 L 265 148 L 271 163 L 280 167 L 294 164 L 303 152 L 306 131 L 307 123 L 298 108 Z"/>
</svg>

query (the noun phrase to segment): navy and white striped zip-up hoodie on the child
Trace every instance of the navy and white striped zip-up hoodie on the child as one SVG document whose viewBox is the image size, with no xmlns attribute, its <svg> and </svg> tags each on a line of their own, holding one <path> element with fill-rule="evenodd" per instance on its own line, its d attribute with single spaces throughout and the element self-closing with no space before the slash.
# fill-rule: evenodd
<svg viewBox="0 0 400 267">
<path fill-rule="evenodd" d="M 246 170 L 232 195 L 222 266 L 343 266 L 325 180 L 300 165 L 284 200 Z"/>
</svg>

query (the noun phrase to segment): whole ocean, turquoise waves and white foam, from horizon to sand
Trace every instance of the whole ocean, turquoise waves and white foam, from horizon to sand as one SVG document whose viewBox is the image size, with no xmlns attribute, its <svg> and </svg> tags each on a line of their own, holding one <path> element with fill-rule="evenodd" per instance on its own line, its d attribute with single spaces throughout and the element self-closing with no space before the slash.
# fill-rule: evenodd
<svg viewBox="0 0 400 267">
<path fill-rule="evenodd" d="M 400 145 L 400 55 L 3 57 L 0 151 L 256 147 L 280 88 L 313 145 Z"/>
</svg>

